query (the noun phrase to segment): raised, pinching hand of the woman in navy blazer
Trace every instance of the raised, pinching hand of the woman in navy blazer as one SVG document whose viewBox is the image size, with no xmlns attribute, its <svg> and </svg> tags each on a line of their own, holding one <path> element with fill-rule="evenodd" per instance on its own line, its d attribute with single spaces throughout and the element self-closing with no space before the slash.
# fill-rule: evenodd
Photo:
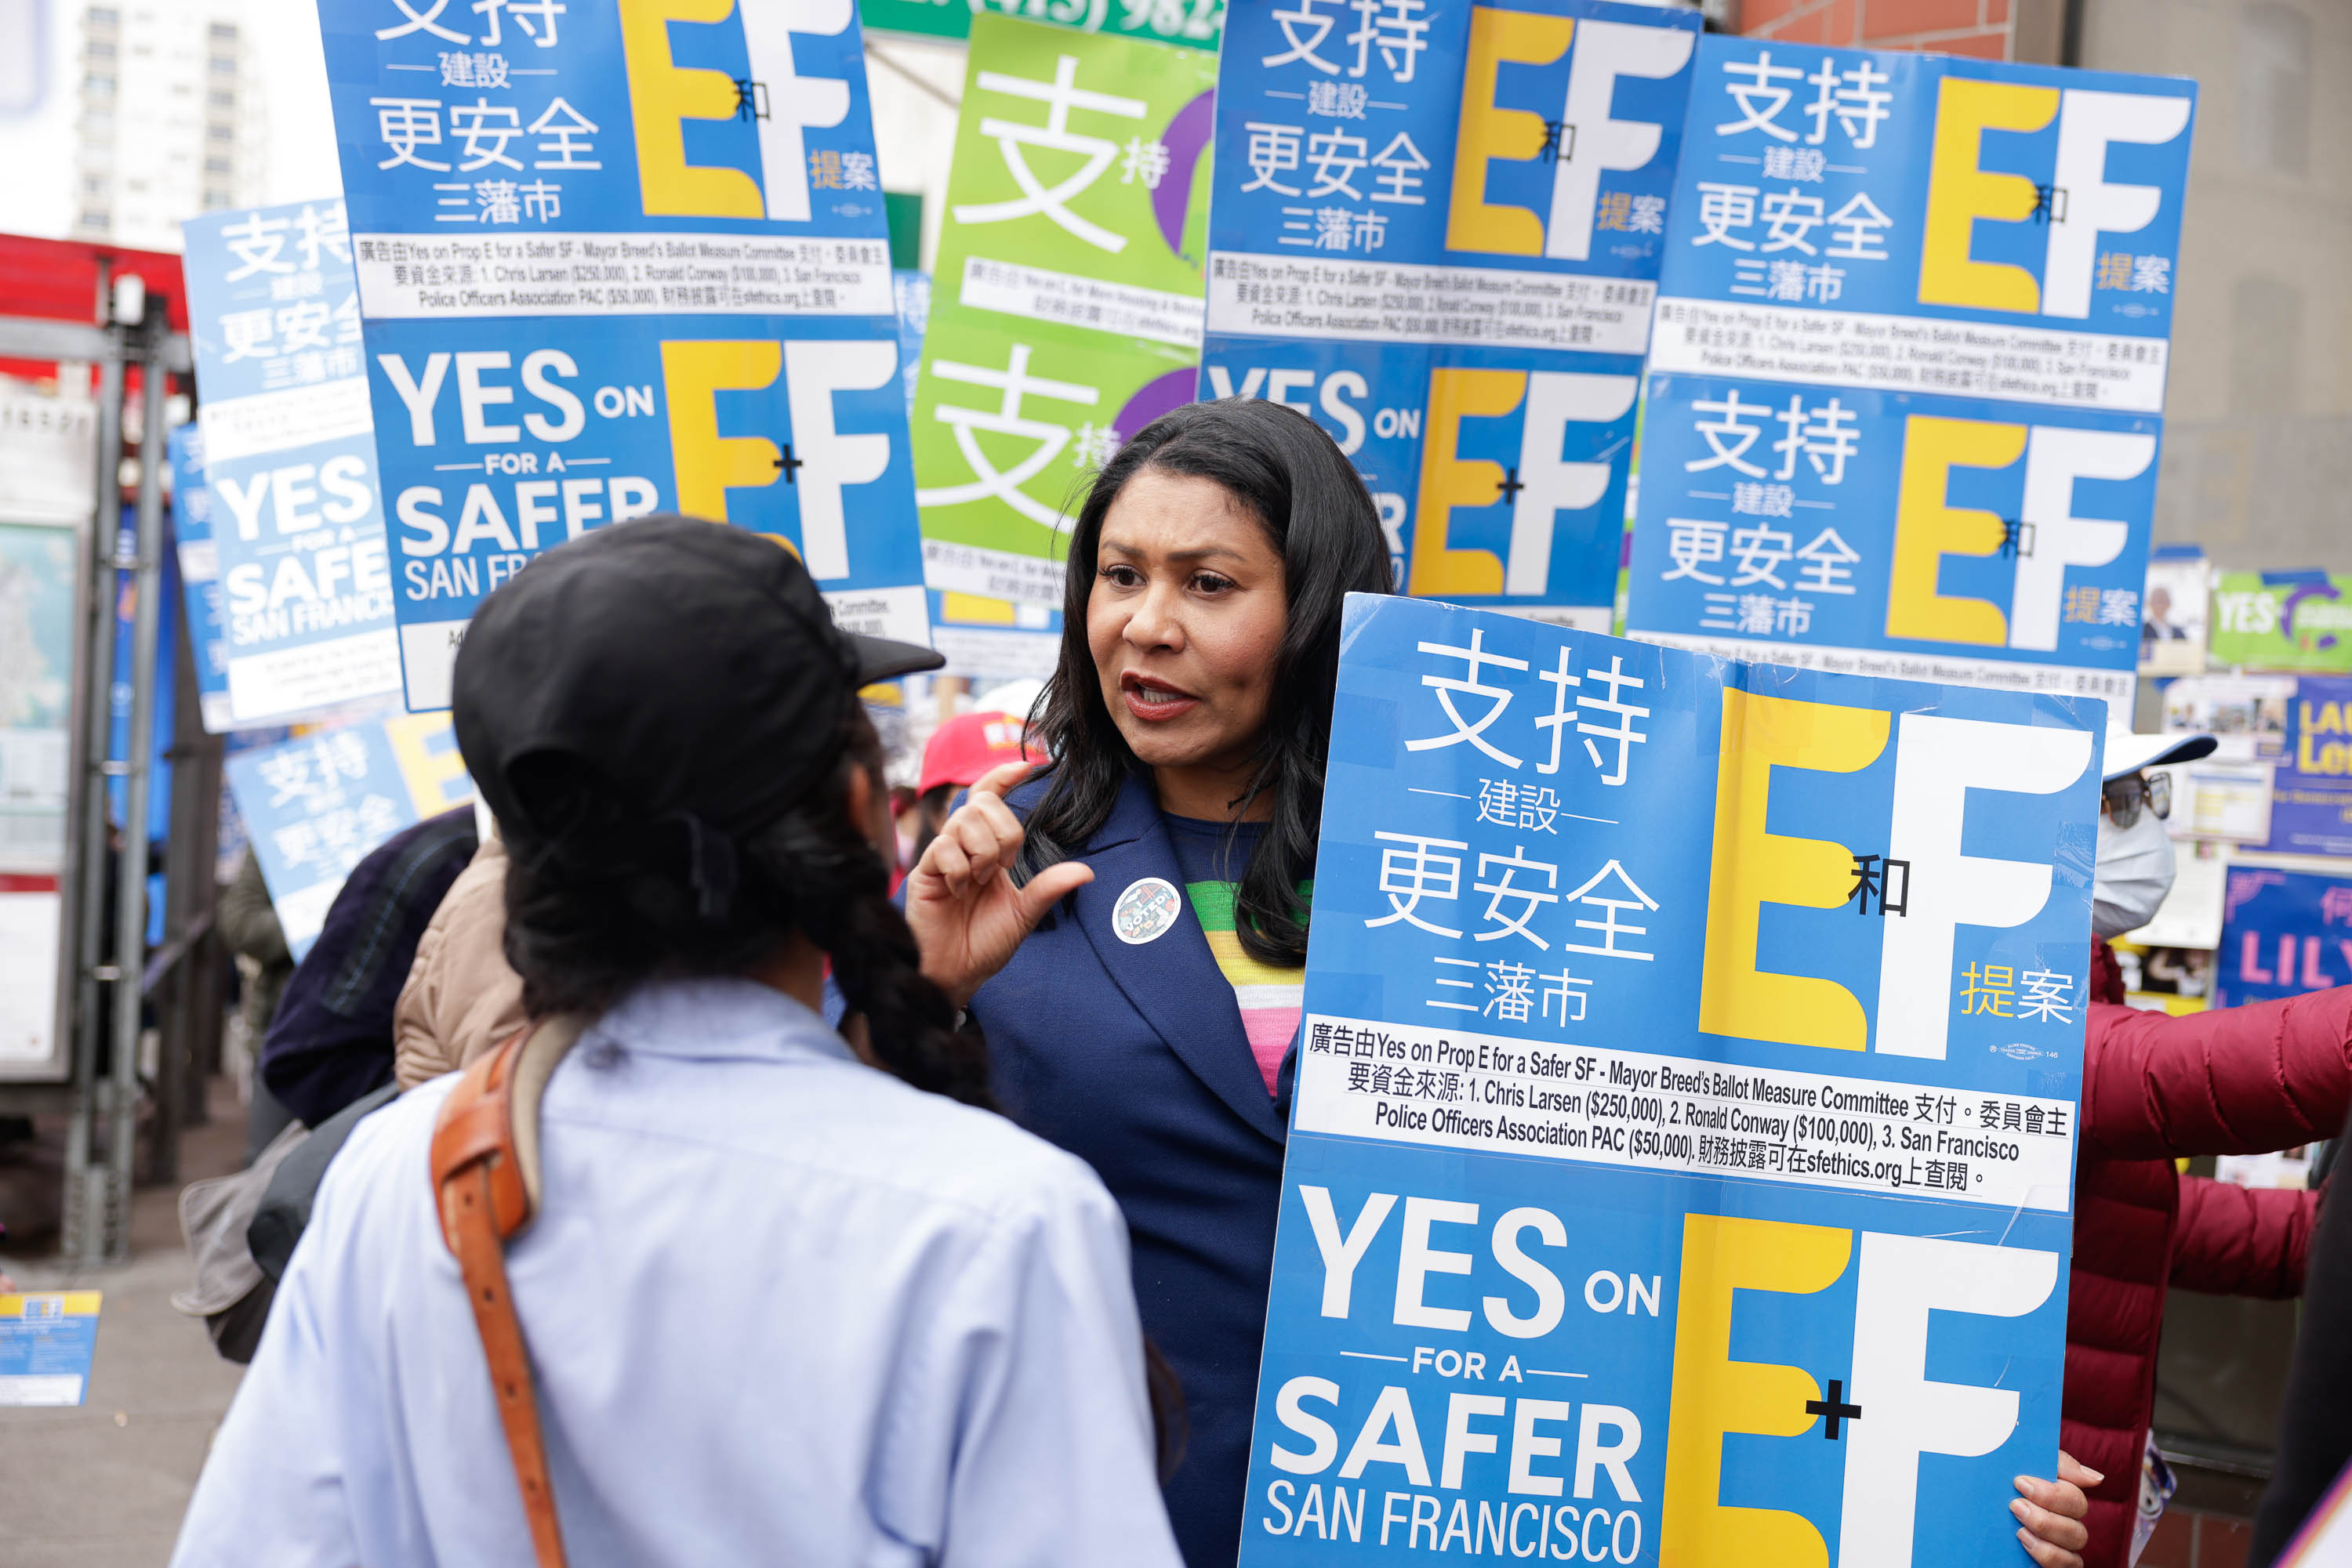
<svg viewBox="0 0 2352 1568">
<path fill-rule="evenodd" d="M 1094 867 L 1063 860 L 1014 886 L 1025 835 L 1004 792 L 1030 771 L 1028 762 L 1007 762 L 981 776 L 906 879 L 906 924 L 922 945 L 922 973 L 955 1006 L 971 1004 L 1047 910 L 1094 882 Z"/>
</svg>

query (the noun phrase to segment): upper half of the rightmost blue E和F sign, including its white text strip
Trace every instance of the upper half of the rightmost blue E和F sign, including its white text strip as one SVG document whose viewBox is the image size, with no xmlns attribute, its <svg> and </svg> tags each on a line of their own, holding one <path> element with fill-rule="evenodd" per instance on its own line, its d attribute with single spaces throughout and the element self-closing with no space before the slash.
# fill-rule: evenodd
<svg viewBox="0 0 2352 1568">
<path fill-rule="evenodd" d="M 1708 38 L 1653 364 L 2159 414 L 2194 101 L 2185 78 Z"/>
</svg>

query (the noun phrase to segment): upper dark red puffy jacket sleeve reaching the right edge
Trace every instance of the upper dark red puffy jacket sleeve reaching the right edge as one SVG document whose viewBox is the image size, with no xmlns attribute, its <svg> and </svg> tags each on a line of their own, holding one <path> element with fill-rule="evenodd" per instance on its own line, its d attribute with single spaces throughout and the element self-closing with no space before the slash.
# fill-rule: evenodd
<svg viewBox="0 0 2352 1568">
<path fill-rule="evenodd" d="M 2267 1154 L 2333 1138 L 2352 1110 L 2352 985 L 2169 1018 L 2091 1004 L 2084 1152 Z"/>
</svg>

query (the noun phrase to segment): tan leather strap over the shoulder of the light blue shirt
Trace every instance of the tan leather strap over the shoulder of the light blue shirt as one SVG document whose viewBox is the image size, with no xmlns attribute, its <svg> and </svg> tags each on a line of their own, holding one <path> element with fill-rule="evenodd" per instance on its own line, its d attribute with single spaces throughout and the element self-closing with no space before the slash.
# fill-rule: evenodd
<svg viewBox="0 0 2352 1568">
<path fill-rule="evenodd" d="M 576 1018 L 522 1030 L 466 1067 L 433 1124 L 433 1201 L 482 1333 L 539 1568 L 564 1568 L 564 1537 L 548 1483 L 532 1356 L 506 1284 L 506 1241 L 539 1213 L 539 1098 L 579 1032 Z"/>
</svg>

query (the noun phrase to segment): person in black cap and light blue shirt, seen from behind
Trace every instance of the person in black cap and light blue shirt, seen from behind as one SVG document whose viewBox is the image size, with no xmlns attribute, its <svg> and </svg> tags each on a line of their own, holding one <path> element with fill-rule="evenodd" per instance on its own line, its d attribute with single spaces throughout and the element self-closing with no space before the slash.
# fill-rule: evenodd
<svg viewBox="0 0 2352 1568">
<path fill-rule="evenodd" d="M 579 1027 L 503 1258 L 562 1561 L 1176 1563 L 1120 1211 L 988 1110 L 887 900 L 856 689 L 936 663 L 682 517 L 550 550 L 459 651 L 506 952 L 539 1027 Z M 858 1046 L 816 1013 L 828 964 Z M 435 1215 L 473 1084 L 329 1168 L 176 1563 L 534 1561 Z"/>
</svg>

